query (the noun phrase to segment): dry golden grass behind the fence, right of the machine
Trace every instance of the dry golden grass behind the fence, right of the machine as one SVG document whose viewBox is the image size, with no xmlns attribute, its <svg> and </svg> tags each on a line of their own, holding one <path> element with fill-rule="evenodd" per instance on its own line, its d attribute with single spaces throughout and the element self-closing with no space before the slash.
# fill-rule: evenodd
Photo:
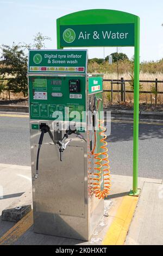
<svg viewBox="0 0 163 256">
<path fill-rule="evenodd" d="M 118 63 L 118 70 L 119 70 L 119 78 L 124 78 L 124 80 L 131 80 L 130 74 L 133 74 L 132 70 L 134 68 L 133 62 L 130 60 L 120 61 Z M 90 62 L 88 65 L 88 71 L 90 73 L 101 73 L 104 74 L 104 78 L 108 79 L 117 79 L 117 63 L 113 63 L 110 65 L 108 62 L 104 62 L 102 64 L 98 64 L 96 62 Z M 159 60 L 158 62 L 142 62 L 140 64 L 140 80 L 158 80 L 163 81 L 163 59 Z M 155 83 L 142 83 L 141 90 L 149 91 L 153 89 Z M 114 89 L 117 89 L 117 85 L 114 85 Z M 120 86 L 119 86 L 120 87 Z M 104 83 L 105 89 L 111 89 L 110 83 Z M 131 86 L 129 83 L 126 83 L 126 90 L 131 90 Z M 158 84 L 158 91 L 163 92 L 163 83 Z M 105 98 L 110 101 L 110 93 L 105 93 Z M 152 101 L 154 103 L 155 95 L 152 94 Z M 119 98 L 120 100 L 120 98 Z M 118 101 L 117 93 L 114 93 L 114 102 Z M 133 102 L 133 94 L 127 93 L 126 94 L 126 101 Z M 151 94 L 140 94 L 140 103 L 151 102 Z M 163 95 L 158 95 L 158 103 L 163 102 Z"/>
</svg>

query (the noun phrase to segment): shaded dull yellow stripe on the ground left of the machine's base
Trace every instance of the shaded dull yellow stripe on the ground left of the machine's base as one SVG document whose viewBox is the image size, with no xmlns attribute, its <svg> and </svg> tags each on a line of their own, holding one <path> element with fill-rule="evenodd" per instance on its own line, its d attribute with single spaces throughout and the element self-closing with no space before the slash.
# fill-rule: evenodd
<svg viewBox="0 0 163 256">
<path fill-rule="evenodd" d="M 0 245 L 12 245 L 12 243 L 22 236 L 32 225 L 33 211 L 30 211 L 0 238 Z"/>
</svg>

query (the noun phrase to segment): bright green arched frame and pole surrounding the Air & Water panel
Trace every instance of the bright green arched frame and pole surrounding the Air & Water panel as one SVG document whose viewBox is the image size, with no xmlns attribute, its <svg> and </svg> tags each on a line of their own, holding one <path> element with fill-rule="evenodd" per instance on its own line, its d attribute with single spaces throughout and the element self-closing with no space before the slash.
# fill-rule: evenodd
<svg viewBox="0 0 163 256">
<path fill-rule="evenodd" d="M 60 46 L 60 26 L 62 25 L 102 25 L 134 24 L 134 139 L 133 139 L 133 190 L 130 195 L 137 196 L 138 163 L 139 163 L 139 59 L 140 59 L 140 18 L 136 15 L 117 10 L 92 9 L 78 11 L 57 19 L 57 48 Z M 106 45 L 103 45 L 106 46 Z M 108 46 L 108 45 L 107 45 Z M 121 45 L 114 45 L 121 46 Z M 71 45 L 70 47 L 76 47 Z M 90 47 L 90 46 L 89 46 Z M 122 46 L 121 46 L 122 47 Z"/>
</svg>

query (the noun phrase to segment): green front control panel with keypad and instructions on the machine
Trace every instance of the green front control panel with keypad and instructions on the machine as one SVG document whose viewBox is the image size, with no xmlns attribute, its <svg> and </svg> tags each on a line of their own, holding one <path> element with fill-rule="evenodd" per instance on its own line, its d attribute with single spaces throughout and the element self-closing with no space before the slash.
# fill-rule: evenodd
<svg viewBox="0 0 163 256">
<path fill-rule="evenodd" d="M 85 90 L 86 76 L 29 76 L 30 119 L 72 120 L 76 111 L 82 118 Z"/>
</svg>

